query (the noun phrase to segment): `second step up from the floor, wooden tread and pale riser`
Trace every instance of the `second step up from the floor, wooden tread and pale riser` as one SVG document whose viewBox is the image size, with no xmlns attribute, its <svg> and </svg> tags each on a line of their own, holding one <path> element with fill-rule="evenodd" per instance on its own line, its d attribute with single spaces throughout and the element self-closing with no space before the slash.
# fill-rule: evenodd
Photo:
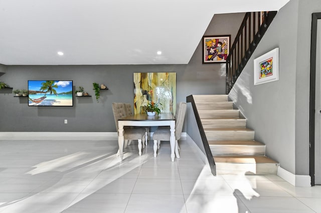
<svg viewBox="0 0 321 213">
<path fill-rule="evenodd" d="M 210 140 L 213 155 L 265 155 L 265 144 L 255 140 Z"/>
</svg>

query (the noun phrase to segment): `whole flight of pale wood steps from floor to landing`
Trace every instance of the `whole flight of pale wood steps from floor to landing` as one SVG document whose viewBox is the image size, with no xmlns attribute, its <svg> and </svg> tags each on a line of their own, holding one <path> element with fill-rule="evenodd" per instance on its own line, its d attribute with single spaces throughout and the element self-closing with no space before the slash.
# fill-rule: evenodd
<svg viewBox="0 0 321 213">
<path fill-rule="evenodd" d="M 265 144 L 233 108 L 228 95 L 193 95 L 217 174 L 276 174 L 279 163 L 265 156 Z"/>
</svg>

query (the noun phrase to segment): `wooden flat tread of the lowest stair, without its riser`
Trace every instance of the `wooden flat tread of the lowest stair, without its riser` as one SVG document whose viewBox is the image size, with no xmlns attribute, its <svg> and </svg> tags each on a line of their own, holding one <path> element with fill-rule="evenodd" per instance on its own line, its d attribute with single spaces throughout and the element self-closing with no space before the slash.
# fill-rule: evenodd
<svg viewBox="0 0 321 213">
<path fill-rule="evenodd" d="M 215 155 L 215 162 L 229 163 L 278 163 L 267 156 L 236 156 L 236 155 Z"/>
</svg>

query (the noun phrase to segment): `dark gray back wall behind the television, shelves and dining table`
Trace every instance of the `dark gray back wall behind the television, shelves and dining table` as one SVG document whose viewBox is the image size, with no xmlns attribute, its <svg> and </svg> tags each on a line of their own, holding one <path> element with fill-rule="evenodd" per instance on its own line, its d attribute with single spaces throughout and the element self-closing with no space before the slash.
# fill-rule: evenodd
<svg viewBox="0 0 321 213">
<path fill-rule="evenodd" d="M 209 26 L 211 30 L 206 33 L 232 34 L 234 38 L 242 18 L 243 13 L 215 15 Z M 75 98 L 73 107 L 33 107 L 28 106 L 26 97 L 13 97 L 14 94 L 2 90 L 0 131 L 116 131 L 111 104 L 133 102 L 133 72 L 176 72 L 178 102 L 186 101 L 190 94 L 225 92 L 225 65 L 202 64 L 201 43 L 189 64 L 8 65 L 6 68 L 0 80 L 14 88 L 27 88 L 28 79 L 73 80 L 75 86 L 83 86 L 93 96 Z M 99 103 L 92 90 L 93 82 L 104 83 L 109 88 L 101 91 Z M 68 119 L 68 124 L 64 124 L 64 119 Z"/>
</svg>

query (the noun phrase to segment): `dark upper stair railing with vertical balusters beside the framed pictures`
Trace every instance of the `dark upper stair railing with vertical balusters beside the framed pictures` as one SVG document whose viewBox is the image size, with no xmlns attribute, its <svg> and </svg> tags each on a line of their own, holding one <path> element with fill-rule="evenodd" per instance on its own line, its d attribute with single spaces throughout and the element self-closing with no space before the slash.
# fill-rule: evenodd
<svg viewBox="0 0 321 213">
<path fill-rule="evenodd" d="M 247 12 L 226 59 L 226 94 L 232 89 L 277 11 Z"/>
</svg>

